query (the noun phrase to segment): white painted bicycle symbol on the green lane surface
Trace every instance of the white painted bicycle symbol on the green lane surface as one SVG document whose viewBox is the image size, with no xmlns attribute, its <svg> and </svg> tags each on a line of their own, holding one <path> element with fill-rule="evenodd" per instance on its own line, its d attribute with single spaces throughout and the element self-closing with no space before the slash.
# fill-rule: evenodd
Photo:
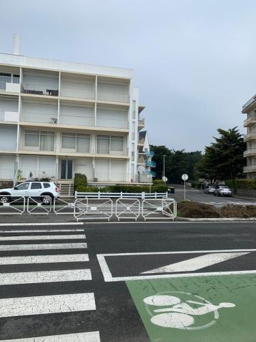
<svg viewBox="0 0 256 342">
<path fill-rule="evenodd" d="M 226 302 L 214 305 L 208 300 L 205 300 L 205 298 L 199 297 L 199 295 L 179 291 L 151 295 L 150 297 L 144 298 L 143 302 L 146 304 L 148 313 L 152 316 L 151 321 L 153 324 L 163 328 L 184 330 L 208 328 L 216 323 L 215 319 L 219 317 L 218 310 L 220 308 L 233 308 L 236 306 L 236 304 Z M 152 306 L 157 306 L 158 308 L 152 308 Z M 165 307 L 159 308 L 160 306 Z M 210 313 L 213 313 L 214 317 L 212 318 L 214 319 L 209 319 L 208 314 Z M 208 315 L 208 322 L 204 324 L 196 323 L 196 317 L 202 317 L 204 315 Z"/>
</svg>

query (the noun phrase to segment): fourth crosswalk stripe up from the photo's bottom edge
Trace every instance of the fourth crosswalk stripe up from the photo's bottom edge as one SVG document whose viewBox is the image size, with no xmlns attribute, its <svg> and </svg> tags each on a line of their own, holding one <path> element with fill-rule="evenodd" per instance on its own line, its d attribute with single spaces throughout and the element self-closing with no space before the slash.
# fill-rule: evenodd
<svg viewBox="0 0 256 342">
<path fill-rule="evenodd" d="M 0 257 L 0 265 L 16 265 L 29 263 L 76 263 L 89 261 L 88 254 L 59 254 L 59 255 L 34 255 L 26 257 Z M 1 285 L 1 277 L 0 277 Z"/>
</svg>

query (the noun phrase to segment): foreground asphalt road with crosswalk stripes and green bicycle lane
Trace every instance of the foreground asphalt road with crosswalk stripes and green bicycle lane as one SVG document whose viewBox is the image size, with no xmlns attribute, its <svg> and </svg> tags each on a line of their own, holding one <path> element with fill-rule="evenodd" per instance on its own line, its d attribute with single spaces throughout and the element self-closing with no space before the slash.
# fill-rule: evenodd
<svg viewBox="0 0 256 342">
<path fill-rule="evenodd" d="M 1 226 L 0 340 L 253 342 L 255 251 L 254 223 Z"/>
</svg>

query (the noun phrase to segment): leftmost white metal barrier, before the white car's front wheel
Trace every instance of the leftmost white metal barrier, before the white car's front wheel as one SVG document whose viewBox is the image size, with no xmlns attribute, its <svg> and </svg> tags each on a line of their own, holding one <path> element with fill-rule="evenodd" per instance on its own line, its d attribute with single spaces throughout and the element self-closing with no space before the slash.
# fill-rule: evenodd
<svg viewBox="0 0 256 342">
<path fill-rule="evenodd" d="M 12 198 L 11 195 L 0 196 L 0 215 L 22 215 L 25 212 L 26 199 L 21 196 Z"/>
</svg>

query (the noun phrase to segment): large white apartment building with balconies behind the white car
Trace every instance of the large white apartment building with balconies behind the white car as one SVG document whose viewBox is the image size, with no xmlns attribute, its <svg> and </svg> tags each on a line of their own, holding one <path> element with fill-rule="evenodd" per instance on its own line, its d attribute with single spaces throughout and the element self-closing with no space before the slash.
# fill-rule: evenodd
<svg viewBox="0 0 256 342">
<path fill-rule="evenodd" d="M 130 69 L 0 53 L 0 181 L 151 182 L 143 109 Z"/>
</svg>

